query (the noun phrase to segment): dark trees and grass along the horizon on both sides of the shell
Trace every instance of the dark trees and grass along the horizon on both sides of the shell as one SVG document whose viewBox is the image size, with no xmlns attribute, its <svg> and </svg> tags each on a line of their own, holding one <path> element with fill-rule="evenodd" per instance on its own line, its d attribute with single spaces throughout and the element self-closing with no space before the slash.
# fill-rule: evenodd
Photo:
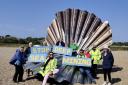
<svg viewBox="0 0 128 85">
<path fill-rule="evenodd" d="M 0 46 L 6 46 L 6 47 L 17 47 L 20 45 L 26 45 L 29 42 L 33 42 L 33 44 L 40 44 L 43 45 L 45 38 L 32 38 L 32 37 L 27 37 L 25 39 L 23 38 L 17 38 L 13 37 L 11 35 L 5 35 L 5 36 L 0 36 Z M 117 50 L 128 50 L 128 42 L 114 42 L 110 48 L 114 51 Z"/>
</svg>

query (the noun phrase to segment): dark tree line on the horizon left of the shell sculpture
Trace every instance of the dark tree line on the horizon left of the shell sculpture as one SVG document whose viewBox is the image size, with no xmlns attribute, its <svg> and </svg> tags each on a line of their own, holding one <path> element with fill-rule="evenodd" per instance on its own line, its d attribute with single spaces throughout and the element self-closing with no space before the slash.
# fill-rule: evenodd
<svg viewBox="0 0 128 85">
<path fill-rule="evenodd" d="M 33 42 L 33 44 L 43 44 L 45 38 L 17 38 L 11 35 L 0 36 L 0 46 L 19 46 Z"/>
</svg>

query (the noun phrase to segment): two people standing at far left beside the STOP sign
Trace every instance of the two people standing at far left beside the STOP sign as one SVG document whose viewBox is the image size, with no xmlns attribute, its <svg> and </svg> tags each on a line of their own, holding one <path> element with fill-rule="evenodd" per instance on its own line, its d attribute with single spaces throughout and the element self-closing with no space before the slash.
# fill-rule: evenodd
<svg viewBox="0 0 128 85">
<path fill-rule="evenodd" d="M 15 83 L 17 82 L 24 82 L 23 80 L 23 73 L 24 69 L 23 66 L 28 60 L 28 57 L 31 53 L 30 48 L 32 47 L 32 42 L 29 43 L 29 46 L 25 48 L 24 46 L 20 46 L 18 49 L 16 49 L 16 52 L 14 56 L 10 60 L 10 64 L 15 66 L 15 73 L 13 76 L 13 81 Z M 30 70 L 28 70 L 28 74 L 30 73 Z"/>
</svg>

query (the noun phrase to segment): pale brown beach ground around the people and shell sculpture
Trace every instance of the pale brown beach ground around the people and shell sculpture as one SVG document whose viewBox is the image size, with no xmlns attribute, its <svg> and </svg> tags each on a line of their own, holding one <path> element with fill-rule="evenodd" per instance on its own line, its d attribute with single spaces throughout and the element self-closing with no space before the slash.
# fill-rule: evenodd
<svg viewBox="0 0 128 85">
<path fill-rule="evenodd" d="M 42 82 L 36 79 L 27 80 L 22 83 L 13 83 L 14 66 L 9 64 L 9 60 L 14 55 L 15 50 L 16 48 L 14 47 L 0 47 L 0 85 L 41 85 Z M 112 70 L 113 85 L 128 85 L 128 51 L 114 51 L 113 55 L 115 59 Z M 102 85 L 103 72 L 100 66 L 98 77 L 96 85 Z M 26 78 L 26 73 L 24 73 L 24 79 Z"/>
</svg>

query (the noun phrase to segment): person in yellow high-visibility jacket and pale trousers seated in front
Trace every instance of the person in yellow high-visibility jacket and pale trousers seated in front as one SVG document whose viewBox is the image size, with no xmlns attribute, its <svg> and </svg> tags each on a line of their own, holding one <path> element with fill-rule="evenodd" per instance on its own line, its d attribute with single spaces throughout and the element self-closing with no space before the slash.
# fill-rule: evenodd
<svg viewBox="0 0 128 85">
<path fill-rule="evenodd" d="M 39 74 L 44 77 L 42 85 L 46 85 L 48 78 L 59 72 L 59 69 L 56 68 L 57 59 L 54 58 L 53 52 L 49 52 L 44 66 L 41 67 L 41 70 L 39 71 Z"/>
</svg>

